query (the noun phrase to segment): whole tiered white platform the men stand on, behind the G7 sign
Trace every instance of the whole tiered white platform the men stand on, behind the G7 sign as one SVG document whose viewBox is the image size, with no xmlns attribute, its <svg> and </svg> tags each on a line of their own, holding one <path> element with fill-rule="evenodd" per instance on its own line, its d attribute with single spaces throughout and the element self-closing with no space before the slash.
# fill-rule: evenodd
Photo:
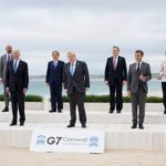
<svg viewBox="0 0 166 166">
<path fill-rule="evenodd" d="M 68 104 L 63 113 L 27 111 L 25 126 L 10 127 L 11 112 L 0 113 L 0 147 L 29 147 L 34 128 L 66 128 L 70 120 Z M 166 115 L 163 104 L 147 104 L 145 129 L 131 129 L 131 104 L 125 104 L 122 114 L 108 114 L 107 104 L 86 104 L 87 128 L 106 132 L 106 149 L 166 151 Z M 101 108 L 101 110 L 100 110 Z"/>
</svg>

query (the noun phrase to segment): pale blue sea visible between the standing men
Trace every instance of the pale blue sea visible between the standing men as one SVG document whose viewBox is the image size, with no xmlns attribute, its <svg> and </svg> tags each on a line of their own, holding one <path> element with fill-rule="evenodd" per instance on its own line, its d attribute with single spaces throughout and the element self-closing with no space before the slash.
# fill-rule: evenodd
<svg viewBox="0 0 166 166">
<path fill-rule="evenodd" d="M 160 81 L 157 79 L 152 79 L 148 82 L 148 95 L 160 96 L 162 95 L 162 85 Z M 126 85 L 123 87 L 124 94 L 126 94 Z M 0 94 L 3 93 L 3 86 L 0 85 Z M 87 94 L 93 95 L 105 95 L 108 94 L 108 86 L 104 82 L 102 75 L 92 75 L 91 76 L 91 87 Z M 44 76 L 31 76 L 29 83 L 28 94 L 41 95 L 43 97 L 50 96 L 50 89 L 46 86 Z M 63 91 L 63 94 L 65 92 Z"/>
</svg>

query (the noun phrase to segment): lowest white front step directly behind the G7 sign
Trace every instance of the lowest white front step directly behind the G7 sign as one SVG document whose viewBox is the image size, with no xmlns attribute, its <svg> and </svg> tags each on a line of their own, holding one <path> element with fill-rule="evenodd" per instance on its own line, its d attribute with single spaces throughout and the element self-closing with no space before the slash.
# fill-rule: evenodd
<svg viewBox="0 0 166 166">
<path fill-rule="evenodd" d="M 31 134 L 34 128 L 45 129 L 82 129 L 80 124 L 75 128 L 66 128 L 65 124 L 28 123 L 25 126 L 10 127 L 8 123 L 0 124 L 0 147 L 30 146 Z M 145 129 L 131 129 L 128 124 L 89 124 L 86 129 L 102 129 L 106 132 L 106 149 L 143 149 L 166 151 L 166 125 L 145 125 Z"/>
</svg>

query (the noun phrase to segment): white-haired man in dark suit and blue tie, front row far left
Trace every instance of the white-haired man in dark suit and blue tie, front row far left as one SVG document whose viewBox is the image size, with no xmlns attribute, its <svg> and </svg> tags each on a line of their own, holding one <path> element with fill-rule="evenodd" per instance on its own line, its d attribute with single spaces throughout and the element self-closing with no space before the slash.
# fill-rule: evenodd
<svg viewBox="0 0 166 166">
<path fill-rule="evenodd" d="M 20 113 L 20 126 L 24 125 L 24 96 L 29 85 L 28 64 L 20 60 L 20 51 L 13 51 L 13 60 L 7 64 L 6 91 L 11 94 L 12 122 L 17 125 L 18 107 Z"/>
</svg>

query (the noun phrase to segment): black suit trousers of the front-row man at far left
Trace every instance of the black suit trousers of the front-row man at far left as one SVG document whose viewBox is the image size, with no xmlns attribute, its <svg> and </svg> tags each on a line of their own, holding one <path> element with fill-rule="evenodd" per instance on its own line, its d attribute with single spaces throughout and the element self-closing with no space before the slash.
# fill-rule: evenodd
<svg viewBox="0 0 166 166">
<path fill-rule="evenodd" d="M 20 90 L 11 91 L 11 105 L 12 105 L 12 123 L 17 123 L 18 121 L 18 110 L 20 114 L 20 123 L 24 123 L 24 94 Z"/>
</svg>

